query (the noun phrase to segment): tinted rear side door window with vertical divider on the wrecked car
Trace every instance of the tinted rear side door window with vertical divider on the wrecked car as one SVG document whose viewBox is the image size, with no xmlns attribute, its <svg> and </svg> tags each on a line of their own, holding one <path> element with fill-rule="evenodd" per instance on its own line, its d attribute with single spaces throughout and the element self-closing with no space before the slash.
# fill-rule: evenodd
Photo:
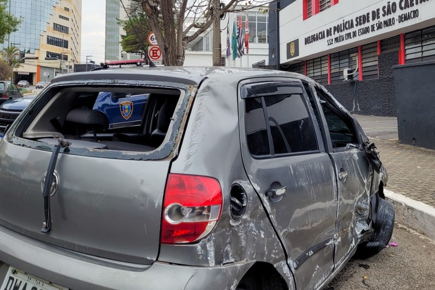
<svg viewBox="0 0 435 290">
<path fill-rule="evenodd" d="M 252 155 L 318 150 L 300 83 L 267 82 L 246 85 L 245 89 L 249 96 L 245 100 L 245 127 Z"/>
</svg>

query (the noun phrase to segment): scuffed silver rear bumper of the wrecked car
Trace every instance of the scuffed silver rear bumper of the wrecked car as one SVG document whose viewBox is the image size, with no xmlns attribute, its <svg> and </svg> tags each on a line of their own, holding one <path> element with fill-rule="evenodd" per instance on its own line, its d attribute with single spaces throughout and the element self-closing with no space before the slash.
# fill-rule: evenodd
<svg viewBox="0 0 435 290">
<path fill-rule="evenodd" d="M 70 289 L 234 289 L 254 261 L 214 267 L 138 265 L 65 250 L 0 226 L 0 284 L 9 265 Z"/>
</svg>

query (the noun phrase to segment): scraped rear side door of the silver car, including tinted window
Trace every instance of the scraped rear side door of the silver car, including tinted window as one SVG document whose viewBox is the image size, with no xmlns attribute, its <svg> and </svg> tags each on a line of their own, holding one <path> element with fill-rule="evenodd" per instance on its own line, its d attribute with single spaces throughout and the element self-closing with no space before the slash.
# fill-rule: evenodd
<svg viewBox="0 0 435 290">
<path fill-rule="evenodd" d="M 300 81 L 251 80 L 241 86 L 239 113 L 250 182 L 287 251 L 296 285 L 311 289 L 334 269 L 336 186 L 304 92 Z"/>
</svg>

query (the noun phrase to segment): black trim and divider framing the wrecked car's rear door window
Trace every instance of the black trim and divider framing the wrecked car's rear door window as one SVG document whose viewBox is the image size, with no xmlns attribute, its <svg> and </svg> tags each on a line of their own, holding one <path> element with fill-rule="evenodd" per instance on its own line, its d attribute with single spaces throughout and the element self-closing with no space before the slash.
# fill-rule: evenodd
<svg viewBox="0 0 435 290">
<path fill-rule="evenodd" d="M 305 88 L 303 87 L 302 81 L 300 79 L 294 78 L 294 77 L 257 77 L 257 78 L 249 78 L 249 79 L 243 79 L 238 83 L 238 94 L 240 96 L 240 98 L 242 100 L 246 99 L 246 98 L 251 98 L 251 96 L 249 97 L 245 97 L 243 98 L 243 94 L 245 93 L 243 91 L 243 86 L 247 85 L 247 84 L 251 84 L 251 83 L 261 83 L 261 82 L 272 82 L 272 81 L 279 81 L 279 82 L 289 82 L 289 83 L 295 83 L 299 86 L 301 92 L 298 93 L 298 95 L 302 95 L 302 101 L 307 109 L 307 113 L 308 113 L 308 117 L 310 119 L 310 122 L 313 126 L 313 130 L 314 130 L 314 135 L 316 138 L 316 144 L 317 144 L 317 150 L 307 150 L 307 151 L 300 151 L 300 152 L 289 152 L 289 153 L 279 153 L 279 154 L 269 154 L 269 155 L 254 155 L 250 152 L 250 150 L 248 149 L 249 154 L 251 155 L 252 158 L 254 159 L 274 159 L 274 158 L 285 158 L 285 157 L 292 157 L 292 156 L 298 156 L 298 155 L 310 155 L 310 154 L 316 154 L 316 153 L 321 153 L 324 152 L 324 148 L 323 148 L 323 141 L 320 143 L 320 139 L 322 139 L 322 136 L 320 135 L 320 132 L 318 129 L 316 129 L 316 126 L 314 124 L 314 113 L 313 110 L 311 108 L 311 105 L 309 104 L 309 99 L 308 99 L 308 95 L 307 92 L 305 91 Z M 272 94 L 273 95 L 273 94 Z M 267 113 L 265 112 L 265 104 L 264 102 L 264 96 L 255 96 L 255 97 L 260 97 L 262 98 L 262 109 L 263 112 L 265 113 L 265 119 L 267 118 L 266 115 Z M 243 119 L 241 119 L 242 116 L 239 116 L 239 120 L 240 122 L 244 122 L 245 124 L 245 114 L 243 114 Z M 273 140 L 271 141 L 270 139 L 272 138 L 271 132 L 270 132 L 270 126 L 269 124 L 269 120 L 266 119 L 266 127 L 268 130 L 268 138 L 269 138 L 269 152 L 271 152 L 273 150 L 274 152 L 274 146 L 273 146 Z M 245 128 L 245 125 L 244 125 Z M 246 128 L 245 128 L 246 129 Z M 245 141 L 246 141 L 246 145 L 247 145 L 247 136 L 246 136 L 246 130 L 243 132 Z M 323 151 L 322 151 L 323 149 Z"/>
</svg>

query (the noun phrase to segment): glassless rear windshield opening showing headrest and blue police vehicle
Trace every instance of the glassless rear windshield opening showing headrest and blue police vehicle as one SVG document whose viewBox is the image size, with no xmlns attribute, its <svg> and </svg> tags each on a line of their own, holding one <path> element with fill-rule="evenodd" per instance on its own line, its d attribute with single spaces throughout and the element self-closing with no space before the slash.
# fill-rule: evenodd
<svg viewBox="0 0 435 290">
<path fill-rule="evenodd" d="M 182 95 L 172 88 L 53 90 L 50 100 L 36 109 L 38 113 L 21 137 L 48 144 L 62 138 L 70 148 L 134 152 L 153 151 L 168 140 Z"/>
</svg>

